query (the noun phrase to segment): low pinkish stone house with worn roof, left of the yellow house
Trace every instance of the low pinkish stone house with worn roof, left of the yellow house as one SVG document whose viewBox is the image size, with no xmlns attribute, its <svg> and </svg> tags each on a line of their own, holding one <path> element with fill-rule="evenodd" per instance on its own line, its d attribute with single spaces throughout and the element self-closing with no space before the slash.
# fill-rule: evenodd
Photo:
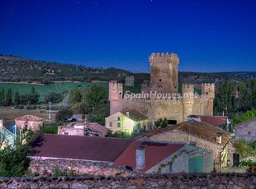
<svg viewBox="0 0 256 189">
<path fill-rule="evenodd" d="M 71 122 L 58 127 L 58 135 L 107 136 L 110 130 L 97 122 Z"/>
</svg>

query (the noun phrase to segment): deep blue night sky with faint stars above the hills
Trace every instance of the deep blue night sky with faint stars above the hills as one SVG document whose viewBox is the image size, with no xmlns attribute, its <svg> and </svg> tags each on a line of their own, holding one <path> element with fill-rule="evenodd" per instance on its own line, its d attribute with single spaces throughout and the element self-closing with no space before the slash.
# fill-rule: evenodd
<svg viewBox="0 0 256 189">
<path fill-rule="evenodd" d="M 0 0 L 0 53 L 149 71 L 151 53 L 180 71 L 256 71 L 256 1 Z"/>
</svg>

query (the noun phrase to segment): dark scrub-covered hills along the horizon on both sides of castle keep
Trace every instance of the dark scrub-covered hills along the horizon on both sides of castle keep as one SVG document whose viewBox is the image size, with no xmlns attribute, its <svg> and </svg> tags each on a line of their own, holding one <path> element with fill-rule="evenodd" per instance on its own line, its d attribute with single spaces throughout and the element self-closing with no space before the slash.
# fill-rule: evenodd
<svg viewBox="0 0 256 189">
<path fill-rule="evenodd" d="M 132 73 L 110 67 L 83 67 L 58 62 L 36 61 L 26 58 L 0 55 L 0 81 L 38 82 L 49 84 L 53 81 L 125 81 L 125 76 L 135 76 L 135 85 L 148 80 L 149 73 Z M 179 83 L 216 83 L 223 81 L 247 81 L 256 78 L 256 71 L 238 72 L 179 72 Z"/>
</svg>

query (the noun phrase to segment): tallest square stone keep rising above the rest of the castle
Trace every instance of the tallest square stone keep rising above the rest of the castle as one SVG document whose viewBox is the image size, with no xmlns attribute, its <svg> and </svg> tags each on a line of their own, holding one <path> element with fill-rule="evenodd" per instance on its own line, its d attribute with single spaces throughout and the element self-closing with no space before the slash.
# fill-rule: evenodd
<svg viewBox="0 0 256 189">
<path fill-rule="evenodd" d="M 158 93 L 178 93 L 177 54 L 152 53 L 150 63 L 150 90 Z"/>
</svg>

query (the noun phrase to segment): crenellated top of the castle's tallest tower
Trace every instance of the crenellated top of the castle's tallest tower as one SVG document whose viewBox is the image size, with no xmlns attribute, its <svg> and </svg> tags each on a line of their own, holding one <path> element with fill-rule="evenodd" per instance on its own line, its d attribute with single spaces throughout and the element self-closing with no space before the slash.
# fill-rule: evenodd
<svg viewBox="0 0 256 189">
<path fill-rule="evenodd" d="M 179 58 L 176 53 L 152 53 L 151 56 L 149 56 L 149 62 L 154 63 L 154 61 L 179 63 Z"/>
</svg>

